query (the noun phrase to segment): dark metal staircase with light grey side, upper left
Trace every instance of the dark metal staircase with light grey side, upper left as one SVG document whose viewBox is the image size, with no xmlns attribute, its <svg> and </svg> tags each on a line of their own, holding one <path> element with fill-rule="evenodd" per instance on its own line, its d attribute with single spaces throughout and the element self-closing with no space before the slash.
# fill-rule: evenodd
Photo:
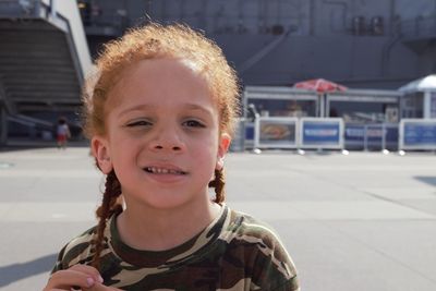
<svg viewBox="0 0 436 291">
<path fill-rule="evenodd" d="M 75 1 L 0 0 L 0 144 L 14 126 L 77 111 L 89 69 Z"/>
</svg>

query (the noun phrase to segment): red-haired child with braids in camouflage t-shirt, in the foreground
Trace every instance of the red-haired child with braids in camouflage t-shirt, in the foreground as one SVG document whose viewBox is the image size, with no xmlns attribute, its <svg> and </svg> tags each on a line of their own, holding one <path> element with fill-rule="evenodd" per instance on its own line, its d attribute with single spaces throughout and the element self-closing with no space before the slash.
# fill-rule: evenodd
<svg viewBox="0 0 436 291">
<path fill-rule="evenodd" d="M 84 101 L 107 174 L 99 222 L 62 248 L 45 290 L 299 290 L 277 235 L 223 204 L 239 88 L 221 50 L 149 24 L 97 66 Z"/>
</svg>

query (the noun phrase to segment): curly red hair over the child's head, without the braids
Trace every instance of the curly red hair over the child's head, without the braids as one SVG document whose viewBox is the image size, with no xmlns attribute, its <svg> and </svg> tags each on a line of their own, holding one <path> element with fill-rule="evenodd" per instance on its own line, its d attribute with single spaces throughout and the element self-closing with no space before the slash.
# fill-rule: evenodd
<svg viewBox="0 0 436 291">
<path fill-rule="evenodd" d="M 186 60 L 194 65 L 213 93 L 219 111 L 220 131 L 232 135 L 239 114 L 239 84 L 222 50 L 185 25 L 162 26 L 156 23 L 131 29 L 122 38 L 105 46 L 97 60 L 97 74 L 88 80 L 89 89 L 84 90 L 85 134 L 92 137 L 106 133 L 105 104 L 124 69 L 141 60 L 158 58 Z"/>
</svg>

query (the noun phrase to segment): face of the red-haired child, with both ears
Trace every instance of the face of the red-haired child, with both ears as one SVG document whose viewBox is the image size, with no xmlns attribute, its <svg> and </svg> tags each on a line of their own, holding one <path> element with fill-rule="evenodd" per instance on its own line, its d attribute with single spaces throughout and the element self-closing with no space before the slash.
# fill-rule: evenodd
<svg viewBox="0 0 436 291">
<path fill-rule="evenodd" d="M 93 138 L 100 169 L 112 168 L 130 202 L 171 208 L 208 197 L 230 137 L 206 81 L 173 59 L 141 61 L 109 93 L 105 136 Z"/>
</svg>

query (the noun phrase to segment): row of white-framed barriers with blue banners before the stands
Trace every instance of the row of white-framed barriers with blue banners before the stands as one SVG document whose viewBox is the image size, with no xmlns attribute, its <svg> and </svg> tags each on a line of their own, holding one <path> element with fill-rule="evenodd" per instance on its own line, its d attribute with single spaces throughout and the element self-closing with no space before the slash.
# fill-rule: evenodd
<svg viewBox="0 0 436 291">
<path fill-rule="evenodd" d="M 398 123 L 344 123 L 340 118 L 241 119 L 232 149 L 436 150 L 436 119 Z"/>
</svg>

